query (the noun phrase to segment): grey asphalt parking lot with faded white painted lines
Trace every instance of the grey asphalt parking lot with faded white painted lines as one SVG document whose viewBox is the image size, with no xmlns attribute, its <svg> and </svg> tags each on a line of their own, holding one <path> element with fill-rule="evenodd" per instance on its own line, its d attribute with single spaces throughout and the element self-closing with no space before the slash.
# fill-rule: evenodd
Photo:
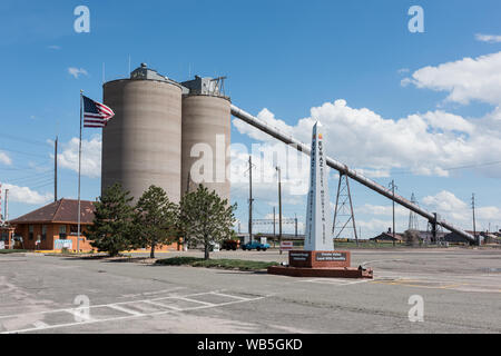
<svg viewBox="0 0 501 356">
<path fill-rule="evenodd" d="M 202 253 L 158 256 L 178 255 Z M 501 249 L 353 250 L 352 265 L 374 279 L 2 255 L 0 333 L 501 333 Z"/>
</svg>

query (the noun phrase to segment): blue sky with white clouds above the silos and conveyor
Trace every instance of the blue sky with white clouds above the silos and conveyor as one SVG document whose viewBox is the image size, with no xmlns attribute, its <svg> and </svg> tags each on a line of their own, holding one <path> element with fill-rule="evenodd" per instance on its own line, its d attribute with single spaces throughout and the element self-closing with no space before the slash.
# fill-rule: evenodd
<svg viewBox="0 0 501 356">
<path fill-rule="evenodd" d="M 73 9 L 80 4 L 90 9 L 90 33 L 73 30 Z M 424 33 L 411 33 L 407 29 L 407 10 L 414 4 L 424 10 Z M 351 132 L 363 132 L 361 128 L 369 132 L 371 125 L 363 120 L 373 113 L 381 118 L 374 119 L 379 129 L 389 127 L 389 132 L 397 136 L 404 132 L 407 121 L 401 121 L 399 127 L 390 121 L 418 116 L 430 123 L 425 130 L 430 137 L 420 141 L 420 135 L 411 135 L 416 141 L 409 145 L 425 145 L 425 139 L 430 139 L 440 146 L 442 140 L 444 150 L 435 148 L 430 156 L 425 155 L 426 149 L 418 150 L 411 162 L 409 155 L 397 155 L 401 148 L 404 150 L 399 145 L 405 146 L 396 142 L 397 138 L 394 142 L 387 137 L 380 141 L 377 136 L 367 135 L 367 142 L 358 134 L 343 142 L 333 123 L 327 139 L 336 142 L 328 154 L 357 169 L 384 170 L 383 175 L 372 174 L 372 178 L 385 186 L 395 179 L 400 194 L 410 197 L 415 192 L 421 205 L 433 211 L 442 208 L 448 219 L 464 228 L 471 228 L 468 205 L 475 192 L 478 206 L 484 208 L 479 224 L 488 228 L 491 222 L 493 229 L 501 226 L 501 165 L 451 170 L 448 176 L 438 174 L 436 168 L 493 162 L 501 157 L 497 148 L 501 137 L 497 111 L 501 105 L 501 79 L 495 71 L 501 70 L 495 57 L 501 51 L 497 37 L 501 36 L 500 10 L 499 1 L 488 0 L 212 0 L 140 4 L 4 0 L 0 4 L 0 95 L 4 98 L 0 155 L 3 152 L 7 158 L 2 160 L 0 156 L 0 181 L 18 190 L 9 205 L 10 217 L 50 200 L 52 147 L 48 140 L 56 135 L 61 150 L 66 150 L 59 196 L 76 197 L 70 141 L 78 138 L 79 90 L 100 99 L 104 63 L 106 80 L 124 78 L 128 76 L 130 56 L 132 69 L 147 62 L 179 81 L 188 79 L 189 73 L 228 76 L 226 89 L 235 105 L 255 115 L 262 112 L 263 119 L 274 115 L 298 136 L 304 131 L 299 120 L 310 118 L 312 108 L 325 103 L 332 106 L 321 113 L 327 125 L 330 120 L 340 122 L 340 115 L 346 118 L 343 125 Z M 488 56 L 491 57 L 485 59 Z M 463 61 L 465 58 L 473 63 Z M 431 69 L 425 70 L 428 67 Z M 69 68 L 84 71 L 72 76 Z M 487 68 L 487 72 L 479 68 Z M 468 91 L 470 81 L 485 82 L 482 88 L 489 90 Z M 451 99 L 451 93 L 456 96 Z M 345 106 L 342 101 L 335 106 L 336 100 L 344 100 Z M 262 111 L 265 108 L 269 115 Z M 370 113 L 361 111 L 364 108 Z M 358 119 L 350 120 L 350 115 Z M 461 119 L 474 129 L 453 130 L 451 126 L 460 125 Z M 99 131 L 86 130 L 84 139 L 92 165 L 99 156 L 94 150 L 99 148 Z M 261 141 L 253 138 L 252 131 L 236 126 L 232 140 L 245 145 Z M 492 148 L 485 148 L 489 146 Z M 371 149 L 380 155 L 377 165 L 364 154 Z M 385 167 L 382 162 L 392 160 L 391 150 L 399 158 Z M 458 154 L 462 150 L 464 155 Z M 443 158 L 433 157 L 438 155 Z M 421 164 L 432 165 L 435 171 L 419 171 Z M 85 199 L 94 199 L 100 189 L 97 170 L 90 170 L 94 172 L 82 178 Z M 332 175 L 334 200 L 337 182 Z M 273 189 L 274 185 L 256 189 L 257 218 L 269 214 L 276 204 L 269 197 Z M 391 221 L 390 201 L 357 184 L 352 184 L 352 190 L 362 235 L 371 237 L 385 229 Z M 245 194 L 243 187 L 235 187 L 233 194 L 243 229 Z M 304 218 L 304 210 L 301 199 L 284 207 L 286 216 L 297 214 Z M 399 230 L 404 229 L 409 212 L 401 211 L 397 219 Z M 420 224 L 425 228 L 425 222 Z"/>
</svg>

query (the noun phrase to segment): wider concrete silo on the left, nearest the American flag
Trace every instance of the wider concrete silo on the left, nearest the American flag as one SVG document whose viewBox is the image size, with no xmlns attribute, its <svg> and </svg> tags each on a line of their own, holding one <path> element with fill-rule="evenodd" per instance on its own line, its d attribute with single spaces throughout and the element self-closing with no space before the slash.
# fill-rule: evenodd
<svg viewBox="0 0 501 356">
<path fill-rule="evenodd" d="M 137 200 L 150 185 L 180 198 L 181 87 L 148 69 L 104 85 L 116 113 L 102 130 L 101 191 L 120 182 Z"/>
</svg>

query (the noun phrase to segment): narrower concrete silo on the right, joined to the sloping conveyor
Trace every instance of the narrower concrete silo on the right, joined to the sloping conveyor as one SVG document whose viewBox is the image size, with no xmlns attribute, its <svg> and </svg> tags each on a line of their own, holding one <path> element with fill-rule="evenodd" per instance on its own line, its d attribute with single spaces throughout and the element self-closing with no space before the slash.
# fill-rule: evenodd
<svg viewBox="0 0 501 356">
<path fill-rule="evenodd" d="M 203 184 L 229 202 L 230 100 L 224 79 L 195 77 L 181 83 L 189 90 L 183 96 L 181 195 Z"/>
</svg>

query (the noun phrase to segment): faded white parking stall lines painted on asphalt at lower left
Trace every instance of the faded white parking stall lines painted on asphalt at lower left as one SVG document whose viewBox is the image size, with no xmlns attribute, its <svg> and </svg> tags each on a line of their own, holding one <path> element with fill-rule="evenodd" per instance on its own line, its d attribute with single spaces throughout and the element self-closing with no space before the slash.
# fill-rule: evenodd
<svg viewBox="0 0 501 356">
<path fill-rule="evenodd" d="M 215 290 L 215 293 L 218 293 L 218 290 Z M 109 323 L 109 322 L 116 322 L 116 320 L 127 320 L 127 319 L 134 319 L 134 318 L 141 318 L 141 317 L 154 317 L 154 316 L 159 316 L 159 315 L 168 315 L 168 314 L 173 314 L 173 313 L 179 313 L 179 312 L 190 312 L 190 310 L 200 310 L 200 309 L 208 309 L 208 308 L 215 308 L 215 307 L 220 307 L 220 306 L 228 306 L 228 305 L 235 305 L 235 304 L 242 304 L 242 303 L 246 303 L 246 301 L 257 301 L 257 300 L 262 300 L 264 298 L 266 298 L 266 296 L 263 297 L 255 297 L 255 298 L 238 298 L 236 300 L 232 300 L 232 301 L 227 301 L 227 303 L 220 303 L 220 304 L 212 304 L 212 303 L 204 303 L 204 301 L 199 301 L 199 300 L 194 300 L 194 299 L 189 299 L 189 297 L 194 297 L 194 296 L 203 296 L 203 295 L 210 295 L 213 294 L 212 291 L 207 291 L 207 293 L 198 293 L 198 294 L 191 294 L 191 295 L 187 295 L 187 296 L 179 296 L 179 297 L 164 297 L 164 298 L 156 298 L 156 299 L 151 299 L 151 300 L 141 300 L 145 303 L 149 303 L 153 301 L 156 304 L 157 300 L 165 300 L 165 299 L 188 299 L 189 301 L 195 301 L 198 303 L 198 306 L 195 307 L 188 307 L 188 308 L 184 308 L 184 309 L 179 309 L 179 310 L 175 310 L 175 309 L 169 309 L 169 310 L 160 310 L 160 312 L 154 312 L 154 313 L 147 313 L 147 314 L 138 314 L 135 312 L 135 314 L 129 314 L 127 316 L 116 316 L 116 317 L 110 317 L 110 318 L 104 318 L 104 319 L 88 319 L 88 320 L 82 320 L 82 322 L 75 322 L 75 323 L 63 323 L 63 324 L 55 324 L 55 325 L 47 325 L 43 322 L 40 322 L 41 324 L 37 324 L 38 327 L 29 327 L 29 328 L 21 328 L 21 329 L 16 329 L 16 330 L 9 330 L 9 332 L 2 332 L 0 334 L 17 334 L 17 333 L 29 333 L 29 332 L 38 332 L 38 330 L 43 330 L 43 329 L 53 329 L 53 328 L 61 328 L 61 327 L 71 327 L 71 326 L 81 326 L 81 325 L 88 325 L 88 324 L 97 324 L 97 323 Z M 228 295 L 229 296 L 229 295 Z M 131 301 L 124 301 L 124 303 L 114 303 L 114 304 L 104 304 L 104 305 L 99 305 L 99 306 L 89 306 L 89 309 L 92 308 L 97 308 L 97 307 L 110 307 L 112 309 L 117 309 L 117 305 L 124 305 L 124 304 L 130 304 L 130 303 L 137 303 L 138 300 L 131 300 Z M 168 307 L 166 305 L 163 305 L 165 307 Z M 119 307 L 120 309 L 126 309 L 124 307 Z M 40 312 L 40 313 L 29 313 L 29 314 L 24 314 L 24 315 L 33 315 L 33 314 L 48 314 L 48 313 L 56 313 L 56 312 L 68 312 L 68 310 L 76 310 L 76 309 L 60 309 L 60 310 L 46 310 L 46 312 Z M 127 309 L 127 313 L 130 313 L 132 310 Z M 120 310 L 124 312 L 124 310 Z M 124 312 L 126 313 L 126 312 Z M 2 318 L 19 318 L 22 317 L 22 314 L 17 314 L 17 315 L 10 315 L 10 316 L 3 316 Z M 36 322 L 39 323 L 39 322 Z M 31 325 L 35 325 L 31 324 Z"/>
</svg>

